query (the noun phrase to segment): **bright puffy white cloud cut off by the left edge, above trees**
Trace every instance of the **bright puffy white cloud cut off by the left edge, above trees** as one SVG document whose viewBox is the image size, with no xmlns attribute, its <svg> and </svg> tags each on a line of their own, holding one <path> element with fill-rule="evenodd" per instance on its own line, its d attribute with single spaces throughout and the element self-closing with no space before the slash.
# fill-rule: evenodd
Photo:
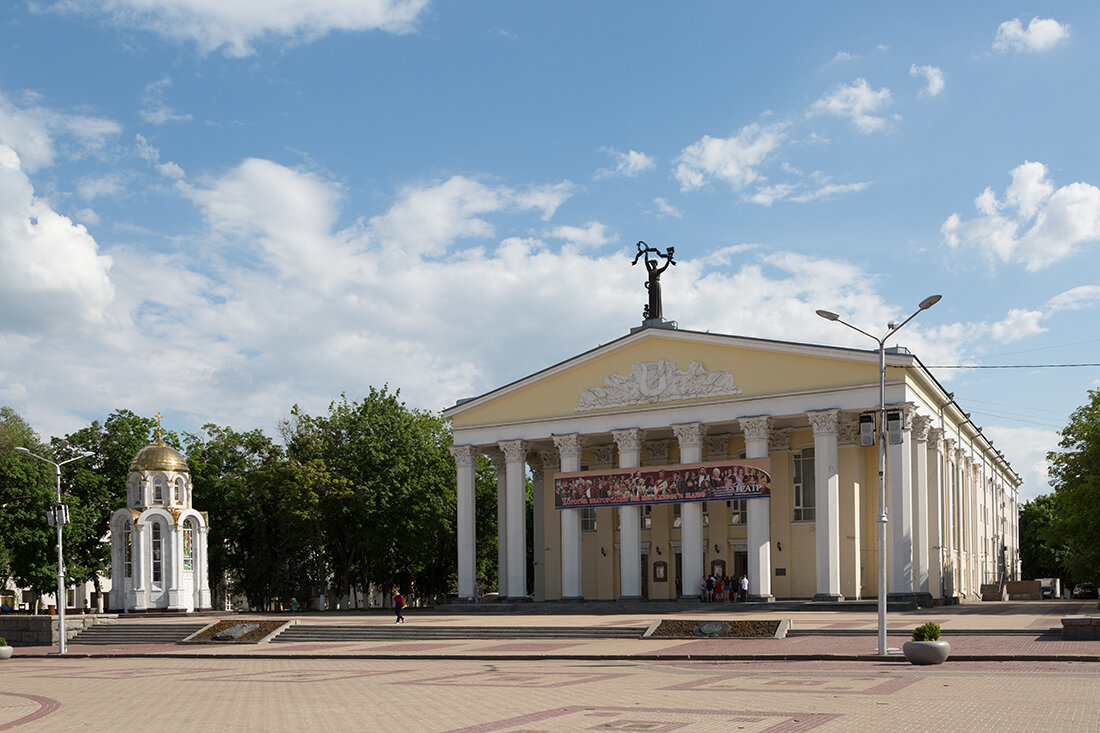
<svg viewBox="0 0 1100 733">
<path fill-rule="evenodd" d="M 110 258 L 34 195 L 19 155 L 0 145 L 0 332 L 102 321 L 114 289 Z"/>
</svg>

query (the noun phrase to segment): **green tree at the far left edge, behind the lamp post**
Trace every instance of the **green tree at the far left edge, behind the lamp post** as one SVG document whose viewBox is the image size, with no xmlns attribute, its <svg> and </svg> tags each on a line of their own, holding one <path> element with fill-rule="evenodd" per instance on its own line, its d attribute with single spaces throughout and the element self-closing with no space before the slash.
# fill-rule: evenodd
<svg viewBox="0 0 1100 733">
<path fill-rule="evenodd" d="M 10 580 L 37 593 L 56 592 L 56 534 L 46 524 L 54 471 L 15 452 L 18 447 L 52 458 L 26 420 L 0 407 L 0 587 Z"/>
</svg>

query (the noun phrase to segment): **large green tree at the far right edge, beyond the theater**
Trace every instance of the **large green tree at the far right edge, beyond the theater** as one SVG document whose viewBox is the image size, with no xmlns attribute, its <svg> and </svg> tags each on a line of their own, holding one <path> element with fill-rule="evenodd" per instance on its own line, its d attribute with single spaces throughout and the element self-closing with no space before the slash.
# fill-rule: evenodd
<svg viewBox="0 0 1100 733">
<path fill-rule="evenodd" d="M 1055 489 L 1054 532 L 1065 544 L 1069 579 L 1100 581 L 1100 390 L 1070 415 L 1058 450 L 1047 456 Z"/>
</svg>

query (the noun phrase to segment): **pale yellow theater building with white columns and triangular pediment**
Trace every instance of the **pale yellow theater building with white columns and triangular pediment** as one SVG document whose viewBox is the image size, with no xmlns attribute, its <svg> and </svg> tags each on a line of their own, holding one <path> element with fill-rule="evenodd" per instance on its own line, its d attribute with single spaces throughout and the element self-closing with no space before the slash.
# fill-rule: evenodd
<svg viewBox="0 0 1100 733">
<path fill-rule="evenodd" d="M 746 575 L 757 601 L 882 592 L 879 446 L 859 429 L 879 407 L 878 350 L 670 326 L 635 329 L 444 411 L 454 431 L 461 598 L 476 583 L 482 453 L 497 469 L 506 598 L 674 599 L 678 589 L 695 597 L 712 572 Z M 1021 480 L 1005 458 L 904 348 L 887 350 L 886 403 L 888 598 L 967 602 L 982 583 L 1019 579 Z M 766 489 L 743 491 L 737 467 L 750 463 L 767 474 Z M 737 472 L 736 488 L 671 490 L 678 472 L 710 477 L 712 464 Z M 564 502 L 556 479 L 571 486 Z M 647 488 L 632 497 L 591 490 L 609 480 Z"/>
</svg>

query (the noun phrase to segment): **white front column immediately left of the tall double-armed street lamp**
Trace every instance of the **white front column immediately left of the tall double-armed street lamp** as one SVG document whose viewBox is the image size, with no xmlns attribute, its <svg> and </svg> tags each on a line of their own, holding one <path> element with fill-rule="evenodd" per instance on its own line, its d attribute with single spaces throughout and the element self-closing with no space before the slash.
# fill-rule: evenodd
<svg viewBox="0 0 1100 733">
<path fill-rule="evenodd" d="M 840 457 L 837 427 L 840 412 L 807 413 L 814 429 L 814 497 L 816 500 L 818 601 L 840 601 Z"/>
</svg>

